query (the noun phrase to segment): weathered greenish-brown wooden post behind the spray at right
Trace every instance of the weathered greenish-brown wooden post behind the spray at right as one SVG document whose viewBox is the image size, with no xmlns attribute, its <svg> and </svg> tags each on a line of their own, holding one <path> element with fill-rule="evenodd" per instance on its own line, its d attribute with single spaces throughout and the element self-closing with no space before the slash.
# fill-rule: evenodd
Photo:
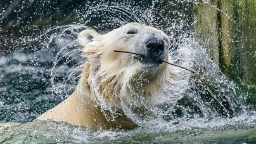
<svg viewBox="0 0 256 144">
<path fill-rule="evenodd" d="M 194 5 L 194 31 L 212 59 L 248 100 L 256 100 L 256 1 L 210 0 Z"/>
</svg>

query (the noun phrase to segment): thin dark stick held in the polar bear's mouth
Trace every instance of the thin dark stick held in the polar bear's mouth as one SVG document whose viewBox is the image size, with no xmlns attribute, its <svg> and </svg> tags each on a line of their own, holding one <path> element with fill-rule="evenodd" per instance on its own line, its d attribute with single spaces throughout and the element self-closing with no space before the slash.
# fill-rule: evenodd
<svg viewBox="0 0 256 144">
<path fill-rule="evenodd" d="M 127 52 L 127 51 L 121 51 L 121 50 L 113 50 L 113 51 L 114 51 L 114 52 L 123 52 L 123 53 L 128 53 L 128 54 L 135 54 L 135 55 L 141 56 L 142 58 L 145 57 L 143 54 L 137 54 L 137 53 L 134 53 L 134 52 Z M 152 60 L 154 60 L 154 59 L 152 59 Z M 157 60 L 154 60 L 154 61 L 157 61 Z M 183 68 L 183 69 L 185 69 L 185 70 L 187 70 L 187 71 L 192 72 L 196 78 L 198 78 L 199 80 L 201 80 L 201 82 L 205 83 L 206 85 L 208 85 L 209 87 L 211 87 L 213 90 L 217 91 L 217 90 L 216 90 L 215 88 L 213 88 L 211 85 L 209 85 L 208 83 L 206 83 L 205 80 L 199 78 L 199 76 L 200 76 L 200 77 L 202 77 L 202 76 L 201 76 L 197 71 L 193 71 L 193 70 L 191 70 L 191 69 L 188 69 L 188 68 L 185 68 L 185 67 L 183 67 L 183 66 L 179 66 L 179 65 L 177 65 L 177 64 L 173 64 L 173 63 L 170 63 L 170 62 L 167 62 L 167 61 L 160 61 L 160 62 L 164 62 L 164 63 L 170 64 L 170 65 L 172 65 L 172 66 L 177 66 L 177 67 L 179 67 L 179 68 Z M 197 75 L 198 75 L 198 76 L 197 76 Z"/>
</svg>

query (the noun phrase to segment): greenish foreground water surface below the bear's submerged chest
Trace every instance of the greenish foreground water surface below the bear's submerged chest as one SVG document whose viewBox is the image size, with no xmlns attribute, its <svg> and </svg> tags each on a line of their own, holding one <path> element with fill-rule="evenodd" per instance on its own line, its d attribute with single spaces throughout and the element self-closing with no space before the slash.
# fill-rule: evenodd
<svg viewBox="0 0 256 144">
<path fill-rule="evenodd" d="M 0 138 L 3 139 L 1 142 L 5 143 L 243 144 L 246 142 L 254 144 L 255 124 L 248 125 L 248 121 L 242 117 L 234 120 L 216 120 L 215 123 L 199 124 L 198 121 L 192 121 L 189 124 L 186 122 L 163 128 L 138 127 L 134 130 L 98 130 L 96 132 L 86 127 L 75 127 L 66 123 L 36 121 L 9 126 L 1 130 Z"/>
</svg>

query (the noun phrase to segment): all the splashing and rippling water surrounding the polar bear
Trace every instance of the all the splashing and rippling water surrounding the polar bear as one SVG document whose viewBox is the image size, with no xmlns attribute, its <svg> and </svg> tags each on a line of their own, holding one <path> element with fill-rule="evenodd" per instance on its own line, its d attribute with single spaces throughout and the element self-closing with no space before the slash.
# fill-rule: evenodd
<svg viewBox="0 0 256 144">
<path fill-rule="evenodd" d="M 207 47 L 194 38 L 190 29 L 193 21 L 175 9 L 183 3 L 191 2 L 166 4 L 172 7 L 168 11 L 172 19 L 157 13 L 158 1 L 70 4 L 77 17 L 69 25 L 59 22 L 32 32 L 24 26 L 12 37 L 6 31 L 0 39 L 0 143 L 256 143 L 256 112 L 249 110 L 246 94 L 210 59 Z M 57 4 L 42 4 L 61 9 Z M 28 1 L 20 8 L 31 5 L 36 4 Z M 22 10 L 17 12 L 17 17 L 21 13 Z M 47 14 L 43 11 L 36 15 Z M 23 21 L 27 19 L 28 16 L 21 17 Z M 156 95 L 161 99 L 159 104 L 149 105 L 153 106 L 149 109 L 153 116 L 140 117 L 127 109 L 127 114 L 140 125 L 134 130 L 92 131 L 67 123 L 33 121 L 76 88 L 81 64 L 86 61 L 76 41 L 78 33 L 87 26 L 107 33 L 127 22 L 163 30 L 172 41 L 173 62 L 198 71 L 211 87 L 192 73 L 172 66 L 178 79 L 172 80 L 175 85 L 163 85 L 166 93 Z"/>
</svg>

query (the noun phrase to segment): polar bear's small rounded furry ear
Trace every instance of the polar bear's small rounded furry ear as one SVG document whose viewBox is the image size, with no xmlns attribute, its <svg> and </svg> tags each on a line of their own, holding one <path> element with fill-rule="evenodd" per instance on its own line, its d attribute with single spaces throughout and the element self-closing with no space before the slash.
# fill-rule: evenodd
<svg viewBox="0 0 256 144">
<path fill-rule="evenodd" d="M 97 33 L 96 31 L 90 29 L 83 30 L 78 34 L 78 43 L 81 46 L 86 46 L 89 42 L 92 42 L 98 36 L 100 36 L 100 33 Z"/>
</svg>

